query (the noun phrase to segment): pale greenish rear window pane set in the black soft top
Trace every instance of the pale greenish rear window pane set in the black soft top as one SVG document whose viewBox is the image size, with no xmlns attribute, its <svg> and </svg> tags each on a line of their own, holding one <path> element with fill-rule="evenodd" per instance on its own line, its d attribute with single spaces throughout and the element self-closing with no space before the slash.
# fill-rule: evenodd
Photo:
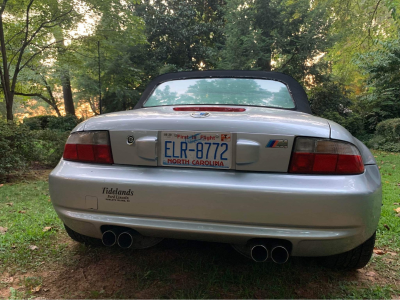
<svg viewBox="0 0 400 300">
<path fill-rule="evenodd" d="M 178 79 L 158 85 L 144 107 L 165 105 L 247 105 L 293 109 L 287 86 L 255 78 Z"/>
</svg>

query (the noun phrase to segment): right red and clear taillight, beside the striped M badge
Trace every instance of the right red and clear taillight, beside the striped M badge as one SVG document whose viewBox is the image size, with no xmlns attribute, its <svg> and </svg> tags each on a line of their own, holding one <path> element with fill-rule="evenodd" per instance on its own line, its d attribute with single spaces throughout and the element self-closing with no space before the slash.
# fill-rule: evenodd
<svg viewBox="0 0 400 300">
<path fill-rule="evenodd" d="M 297 138 L 289 173 L 361 174 L 364 164 L 358 149 L 346 142 Z"/>
</svg>

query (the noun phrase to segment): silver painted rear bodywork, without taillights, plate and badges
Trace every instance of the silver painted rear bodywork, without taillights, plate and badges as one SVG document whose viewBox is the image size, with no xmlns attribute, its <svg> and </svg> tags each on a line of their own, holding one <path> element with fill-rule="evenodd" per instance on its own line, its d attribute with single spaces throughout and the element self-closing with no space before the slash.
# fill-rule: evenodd
<svg viewBox="0 0 400 300">
<path fill-rule="evenodd" d="M 379 170 L 368 148 L 332 121 L 295 111 L 245 108 L 202 119 L 155 107 L 79 124 L 73 131 L 110 131 L 115 164 L 61 160 L 49 177 L 55 210 L 70 228 L 96 238 L 102 225 L 234 244 L 281 238 L 292 242 L 294 256 L 341 253 L 367 240 L 376 230 L 382 199 Z M 157 167 L 161 130 L 232 132 L 236 170 Z M 132 145 L 127 144 L 129 135 L 135 137 Z M 296 136 L 353 143 L 365 172 L 285 173 Z M 265 148 L 270 139 L 287 139 L 288 148 Z M 130 202 L 107 201 L 104 187 L 132 189 L 134 195 Z"/>
</svg>

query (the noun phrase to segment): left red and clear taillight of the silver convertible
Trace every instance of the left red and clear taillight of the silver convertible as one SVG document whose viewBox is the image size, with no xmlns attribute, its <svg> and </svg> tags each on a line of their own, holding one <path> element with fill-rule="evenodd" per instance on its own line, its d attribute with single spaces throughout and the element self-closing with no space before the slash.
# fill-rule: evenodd
<svg viewBox="0 0 400 300">
<path fill-rule="evenodd" d="M 65 144 L 65 160 L 112 164 L 112 154 L 108 131 L 74 132 Z"/>
</svg>

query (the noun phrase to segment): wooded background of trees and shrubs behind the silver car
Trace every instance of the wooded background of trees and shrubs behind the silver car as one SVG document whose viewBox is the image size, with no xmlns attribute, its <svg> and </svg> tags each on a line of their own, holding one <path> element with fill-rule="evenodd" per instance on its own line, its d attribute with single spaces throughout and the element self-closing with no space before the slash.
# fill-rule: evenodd
<svg viewBox="0 0 400 300">
<path fill-rule="evenodd" d="M 100 97 L 102 113 L 131 109 L 154 77 L 191 70 L 289 74 L 315 115 L 370 148 L 400 151 L 399 7 L 399 0 L 2 0 L 0 173 L 28 156 L 54 165 L 66 132 L 100 113 Z"/>
</svg>

